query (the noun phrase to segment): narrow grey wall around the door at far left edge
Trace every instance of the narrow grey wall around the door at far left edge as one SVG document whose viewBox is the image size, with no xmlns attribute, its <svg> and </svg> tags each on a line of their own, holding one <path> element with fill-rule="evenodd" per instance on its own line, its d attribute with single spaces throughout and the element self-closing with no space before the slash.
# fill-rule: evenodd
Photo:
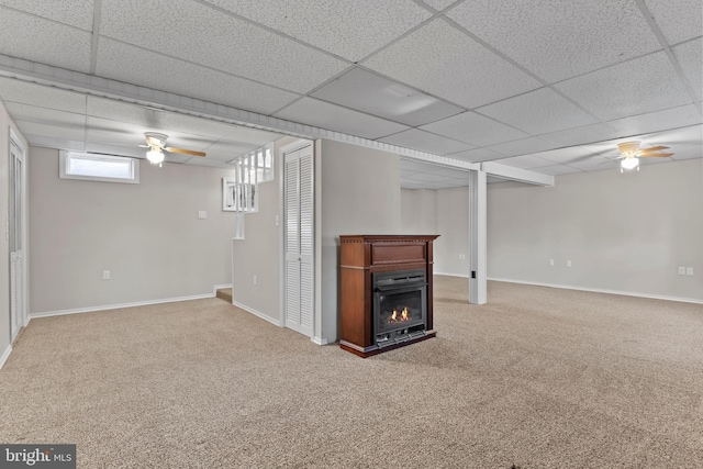
<svg viewBox="0 0 703 469">
<path fill-rule="evenodd" d="M 10 129 L 24 147 L 25 160 L 29 159 L 29 145 L 14 125 L 2 101 L 0 101 L 0 220 L 8 216 L 9 168 L 10 168 Z M 26 164 L 25 164 L 26 167 Z M 26 246 L 26 243 L 24 243 Z M 0 236 L 0 367 L 10 349 L 10 245 L 5 236 Z"/>
</svg>

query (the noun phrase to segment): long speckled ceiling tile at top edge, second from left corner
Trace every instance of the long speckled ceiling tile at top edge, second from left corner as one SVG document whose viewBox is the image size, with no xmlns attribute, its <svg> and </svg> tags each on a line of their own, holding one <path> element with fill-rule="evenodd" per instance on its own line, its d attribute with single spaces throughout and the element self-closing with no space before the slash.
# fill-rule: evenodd
<svg viewBox="0 0 703 469">
<path fill-rule="evenodd" d="M 103 0 L 100 33 L 298 92 L 311 90 L 347 67 L 347 63 L 327 54 L 190 0 L 146 3 Z M 125 67 L 126 64 L 131 62 L 125 58 L 118 62 L 116 67 Z M 160 70 L 163 75 L 174 72 L 176 69 L 171 67 Z M 153 77 L 160 74 L 155 72 Z M 182 75 L 181 80 L 189 82 Z M 190 82 L 201 85 L 193 78 Z M 230 91 L 234 90 L 236 88 Z"/>
</svg>

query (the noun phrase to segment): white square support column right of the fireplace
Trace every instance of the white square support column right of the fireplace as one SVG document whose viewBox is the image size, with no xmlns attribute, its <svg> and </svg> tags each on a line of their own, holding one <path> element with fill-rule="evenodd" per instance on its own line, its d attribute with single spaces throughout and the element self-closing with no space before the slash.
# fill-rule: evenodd
<svg viewBox="0 0 703 469">
<path fill-rule="evenodd" d="M 488 301 L 488 228 L 486 171 L 469 171 L 469 303 Z"/>
</svg>

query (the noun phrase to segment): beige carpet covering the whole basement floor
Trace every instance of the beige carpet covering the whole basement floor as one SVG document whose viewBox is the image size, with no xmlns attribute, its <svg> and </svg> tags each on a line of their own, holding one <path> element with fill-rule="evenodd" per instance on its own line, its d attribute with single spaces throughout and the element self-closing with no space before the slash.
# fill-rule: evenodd
<svg viewBox="0 0 703 469">
<path fill-rule="evenodd" d="M 703 306 L 435 284 L 437 337 L 367 359 L 216 298 L 33 320 L 0 443 L 81 468 L 703 467 Z"/>
</svg>

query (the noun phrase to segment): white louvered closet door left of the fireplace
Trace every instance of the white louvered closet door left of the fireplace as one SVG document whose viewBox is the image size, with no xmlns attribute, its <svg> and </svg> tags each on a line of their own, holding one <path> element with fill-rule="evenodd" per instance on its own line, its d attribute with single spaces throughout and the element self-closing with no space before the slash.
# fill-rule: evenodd
<svg viewBox="0 0 703 469">
<path fill-rule="evenodd" d="M 312 145 L 284 156 L 286 327 L 313 335 L 313 155 Z"/>
</svg>

